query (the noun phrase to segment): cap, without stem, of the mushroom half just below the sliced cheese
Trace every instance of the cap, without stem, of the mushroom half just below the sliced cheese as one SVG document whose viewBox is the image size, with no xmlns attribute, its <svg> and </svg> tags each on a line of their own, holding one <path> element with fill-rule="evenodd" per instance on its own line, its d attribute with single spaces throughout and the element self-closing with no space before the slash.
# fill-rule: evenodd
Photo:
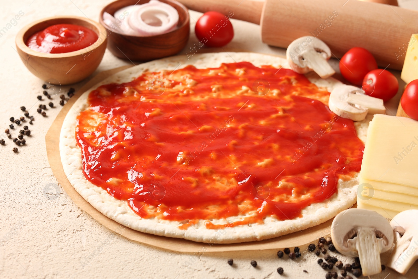
<svg viewBox="0 0 418 279">
<path fill-rule="evenodd" d="M 342 254 L 358 256 L 357 251 L 347 243 L 347 240 L 357 236 L 360 228 L 374 228 L 376 238 L 383 238 L 383 253 L 393 244 L 393 229 L 385 217 L 373 210 L 349 208 L 340 212 L 331 225 L 331 238 L 335 248 Z"/>
</svg>

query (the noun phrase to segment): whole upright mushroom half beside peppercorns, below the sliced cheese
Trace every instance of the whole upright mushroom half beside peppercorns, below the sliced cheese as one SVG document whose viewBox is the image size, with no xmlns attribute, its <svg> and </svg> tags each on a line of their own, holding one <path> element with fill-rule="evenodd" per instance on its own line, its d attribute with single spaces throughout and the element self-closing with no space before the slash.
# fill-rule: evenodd
<svg viewBox="0 0 418 279">
<path fill-rule="evenodd" d="M 359 257 L 364 276 L 382 271 L 380 253 L 393 244 L 389 222 L 379 213 L 360 208 L 340 212 L 331 225 L 331 238 L 340 253 Z"/>
</svg>

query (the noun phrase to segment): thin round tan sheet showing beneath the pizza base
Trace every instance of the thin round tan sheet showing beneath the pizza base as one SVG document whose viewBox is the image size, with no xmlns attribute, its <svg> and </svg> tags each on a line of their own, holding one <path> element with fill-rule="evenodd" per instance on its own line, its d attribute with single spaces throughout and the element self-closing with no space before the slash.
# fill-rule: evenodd
<svg viewBox="0 0 418 279">
<path fill-rule="evenodd" d="M 61 164 L 61 156 L 59 153 L 59 135 L 61 132 L 61 126 L 71 106 L 82 95 L 82 93 L 89 90 L 95 84 L 111 76 L 112 74 L 120 72 L 129 67 L 131 66 L 118 67 L 115 69 L 101 72 L 97 74 L 95 77 L 93 77 L 89 82 L 87 82 L 80 90 L 78 90 L 75 93 L 75 95 L 66 103 L 66 105 L 64 105 L 64 107 L 59 112 L 58 116 L 52 123 L 51 128 L 49 128 L 48 133 L 45 136 L 46 152 L 48 156 L 49 165 L 51 166 L 53 173 L 55 177 L 58 179 L 58 182 L 61 184 L 61 187 L 66 191 L 66 193 L 75 202 L 75 204 L 78 205 L 82 210 L 87 212 L 106 228 L 130 240 L 178 252 L 207 253 L 221 251 L 248 251 L 279 249 L 294 246 L 299 246 L 303 248 L 304 246 L 308 245 L 309 243 L 312 243 L 321 236 L 326 236 L 330 234 L 332 219 L 313 228 L 299 230 L 296 233 L 291 233 L 288 235 L 283 235 L 277 238 L 272 238 L 263 241 L 253 241 L 234 244 L 199 243 L 185 240 L 182 238 L 170 238 L 165 236 L 152 235 L 148 233 L 141 233 L 139 231 L 125 227 L 124 225 L 121 225 L 110 218 L 107 218 L 105 215 L 103 215 L 101 212 L 95 209 L 92 205 L 90 205 L 89 202 L 84 200 L 84 198 L 81 195 L 79 195 L 79 193 L 74 189 L 74 187 L 72 187 L 71 183 L 68 181 L 64 173 L 64 169 Z"/>
</svg>

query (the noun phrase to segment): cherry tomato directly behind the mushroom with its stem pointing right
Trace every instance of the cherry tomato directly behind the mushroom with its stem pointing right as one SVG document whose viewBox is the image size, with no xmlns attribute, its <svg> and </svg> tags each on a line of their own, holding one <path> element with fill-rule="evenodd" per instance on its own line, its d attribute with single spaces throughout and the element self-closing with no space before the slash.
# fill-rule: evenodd
<svg viewBox="0 0 418 279">
<path fill-rule="evenodd" d="M 362 90 L 366 92 L 366 95 L 382 99 L 385 102 L 396 95 L 398 88 L 398 79 L 387 70 L 370 71 L 363 79 Z"/>
</svg>

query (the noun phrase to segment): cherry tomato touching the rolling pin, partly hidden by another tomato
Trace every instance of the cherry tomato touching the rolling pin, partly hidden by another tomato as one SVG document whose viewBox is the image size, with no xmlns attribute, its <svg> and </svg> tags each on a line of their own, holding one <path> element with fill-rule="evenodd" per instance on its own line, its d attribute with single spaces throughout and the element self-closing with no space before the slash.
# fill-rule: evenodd
<svg viewBox="0 0 418 279">
<path fill-rule="evenodd" d="M 352 84 L 361 85 L 364 76 L 377 69 L 375 57 L 362 47 L 353 47 L 342 56 L 339 68 L 342 76 Z"/>
</svg>

